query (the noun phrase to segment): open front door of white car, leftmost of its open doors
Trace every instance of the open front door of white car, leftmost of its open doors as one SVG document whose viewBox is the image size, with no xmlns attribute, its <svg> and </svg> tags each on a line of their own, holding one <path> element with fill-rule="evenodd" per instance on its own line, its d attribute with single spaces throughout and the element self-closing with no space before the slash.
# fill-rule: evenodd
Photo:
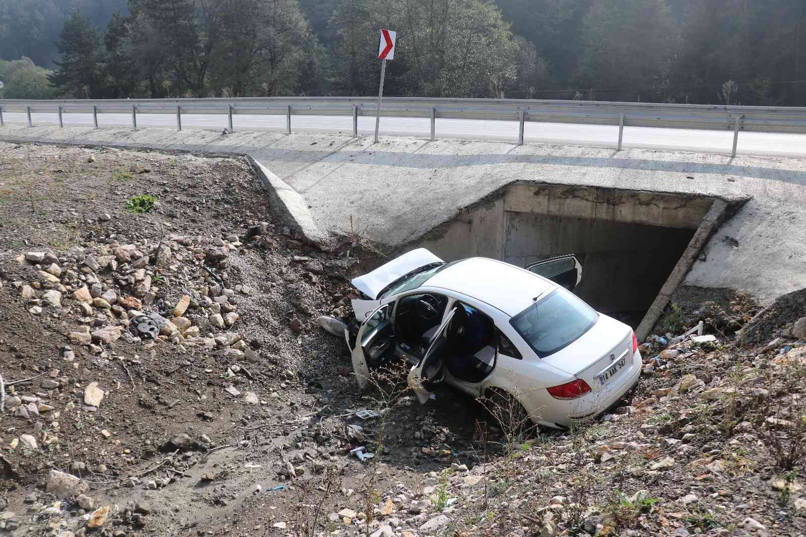
<svg viewBox="0 0 806 537">
<path fill-rule="evenodd" d="M 355 381 L 360 389 L 369 383 L 372 369 L 386 363 L 395 351 L 395 334 L 390 318 L 393 304 L 384 304 L 361 324 L 352 349 Z"/>
</svg>

